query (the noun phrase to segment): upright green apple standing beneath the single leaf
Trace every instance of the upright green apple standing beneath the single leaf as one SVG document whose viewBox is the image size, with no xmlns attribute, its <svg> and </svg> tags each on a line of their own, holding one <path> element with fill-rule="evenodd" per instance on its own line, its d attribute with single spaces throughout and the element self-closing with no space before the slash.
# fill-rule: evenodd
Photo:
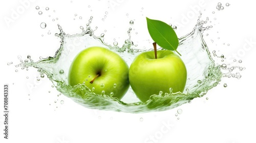
<svg viewBox="0 0 256 143">
<path fill-rule="evenodd" d="M 140 101 L 146 102 L 160 91 L 183 92 L 187 79 L 186 66 L 181 58 L 168 50 L 143 52 L 132 62 L 129 69 L 130 85 Z"/>
</svg>

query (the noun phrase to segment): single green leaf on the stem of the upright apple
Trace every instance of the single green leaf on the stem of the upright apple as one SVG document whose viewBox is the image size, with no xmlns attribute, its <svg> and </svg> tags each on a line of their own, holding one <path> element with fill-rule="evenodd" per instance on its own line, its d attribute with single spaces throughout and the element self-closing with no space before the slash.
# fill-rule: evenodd
<svg viewBox="0 0 256 143">
<path fill-rule="evenodd" d="M 146 17 L 147 29 L 152 39 L 162 48 L 170 51 L 177 51 L 179 39 L 173 28 L 160 20 L 153 20 Z"/>
</svg>

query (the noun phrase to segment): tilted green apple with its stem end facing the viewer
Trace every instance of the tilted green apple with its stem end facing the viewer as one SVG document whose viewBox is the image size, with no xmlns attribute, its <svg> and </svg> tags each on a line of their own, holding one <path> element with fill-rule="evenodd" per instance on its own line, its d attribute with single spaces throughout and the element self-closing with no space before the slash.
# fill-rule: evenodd
<svg viewBox="0 0 256 143">
<path fill-rule="evenodd" d="M 75 57 L 69 69 L 68 81 L 71 86 L 84 83 L 96 94 L 104 90 L 106 95 L 120 100 L 130 87 L 128 73 L 129 66 L 118 54 L 104 47 L 93 46 Z"/>
</svg>

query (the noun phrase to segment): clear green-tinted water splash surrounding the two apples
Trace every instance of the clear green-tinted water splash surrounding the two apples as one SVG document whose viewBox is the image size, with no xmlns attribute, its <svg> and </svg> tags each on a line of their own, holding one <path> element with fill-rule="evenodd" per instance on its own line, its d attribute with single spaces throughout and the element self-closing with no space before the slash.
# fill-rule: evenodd
<svg viewBox="0 0 256 143">
<path fill-rule="evenodd" d="M 36 9 L 39 9 L 39 7 L 36 7 Z M 90 27 L 92 18 L 90 18 L 85 28 L 80 27 L 82 30 L 80 34 L 66 34 L 61 26 L 58 25 L 59 33 L 56 33 L 55 36 L 61 39 L 61 44 L 55 56 L 40 58 L 37 62 L 34 62 L 30 55 L 24 61 L 21 57 L 18 57 L 20 64 L 16 65 L 16 67 L 22 67 L 22 69 L 37 68 L 41 78 L 51 80 L 59 92 L 84 107 L 130 113 L 169 110 L 184 103 L 190 103 L 194 98 L 203 97 L 208 90 L 217 86 L 223 77 L 241 78 L 239 73 L 233 74 L 232 71 L 234 69 L 241 70 L 241 68 L 243 70 L 243 67 L 227 67 L 226 64 L 219 65 L 212 59 L 212 56 L 218 56 L 215 51 L 209 52 L 203 39 L 204 31 L 211 27 L 204 26 L 208 19 L 205 21 L 199 19 L 193 31 L 179 38 L 178 50 L 181 55 L 185 55 L 181 58 L 187 68 L 187 83 L 183 93 L 173 93 L 172 88 L 170 88 L 168 93 L 160 91 L 159 94 L 152 95 L 146 103 L 142 103 L 136 98 L 131 87 L 122 100 L 111 98 L 105 95 L 104 92 L 100 95 L 95 94 L 84 84 L 71 87 L 68 85 L 69 67 L 75 56 L 87 47 L 95 45 L 106 47 L 118 53 L 128 65 L 139 53 L 143 52 L 136 49 L 133 41 L 131 41 L 130 33 L 132 29 L 127 31 L 129 38 L 124 41 L 122 46 L 119 46 L 117 42 L 114 42 L 113 45 L 106 44 L 104 42 L 104 34 L 100 36 L 94 35 L 94 31 Z M 134 22 L 130 21 L 130 25 L 133 24 Z M 46 24 L 42 22 L 40 26 L 45 28 Z M 150 50 L 152 49 L 146 51 Z M 223 59 L 224 56 L 221 55 L 218 58 Z M 225 83 L 223 86 L 227 87 L 227 84 Z M 62 101 L 61 104 L 63 103 Z M 181 114 L 182 110 L 179 110 L 178 113 Z"/>
</svg>

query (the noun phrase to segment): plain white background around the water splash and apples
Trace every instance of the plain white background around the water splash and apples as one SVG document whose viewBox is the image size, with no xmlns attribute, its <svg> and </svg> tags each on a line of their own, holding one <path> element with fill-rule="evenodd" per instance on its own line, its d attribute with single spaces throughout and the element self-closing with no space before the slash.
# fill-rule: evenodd
<svg viewBox="0 0 256 143">
<path fill-rule="evenodd" d="M 27 3 L 24 5 L 22 2 Z M 223 5 L 230 3 L 230 6 L 217 11 L 218 2 Z M 38 15 L 36 6 L 40 7 L 42 15 Z M 0 142 L 256 142 L 254 6 L 255 3 L 249 0 L 2 2 L 0 108 L 2 112 L 3 85 L 9 84 L 10 113 L 9 139 L 4 139 L 4 113 L 0 115 Z M 49 11 L 45 10 L 46 7 L 50 8 Z M 132 27 L 135 29 L 132 40 L 143 48 L 151 46 L 147 41 L 151 38 L 147 33 L 145 16 L 176 23 L 177 26 L 180 24 L 177 30 L 180 37 L 195 26 L 198 8 L 203 17 L 208 16 L 212 21 L 212 24 L 208 23 L 213 28 L 205 37 L 210 51 L 216 50 L 218 55 L 223 54 L 228 58 L 226 63 L 246 69 L 240 72 L 241 79 L 223 78 L 220 85 L 190 104 L 143 114 L 92 110 L 63 95 L 57 97 L 59 92 L 51 87 L 48 79 L 36 81 L 38 73 L 33 68 L 29 68 L 29 71 L 17 68 L 18 72 L 15 72 L 14 65 L 19 63 L 18 55 L 23 59 L 31 55 L 34 60 L 38 60 L 39 56 L 54 55 L 59 47 L 59 39 L 54 36 L 58 32 L 57 24 L 66 33 L 80 33 L 79 27 L 85 27 L 89 17 L 93 16 L 92 28 L 98 27 L 96 35 L 106 30 L 107 42 L 113 43 L 115 38 L 123 43 L 127 38 L 126 31 Z M 212 11 L 216 13 L 212 14 Z M 53 18 L 58 20 L 52 21 Z M 134 20 L 133 26 L 129 25 L 130 20 Z M 46 29 L 39 27 L 41 22 L 47 23 Z M 50 35 L 47 34 L 49 30 Z M 251 41 L 250 44 L 248 41 Z M 234 63 L 234 58 L 243 62 Z M 13 64 L 8 66 L 8 62 Z M 227 83 L 226 88 L 223 87 L 224 83 Z M 64 104 L 60 104 L 61 100 Z M 183 110 L 178 115 L 179 120 L 175 116 L 177 109 Z"/>
</svg>

